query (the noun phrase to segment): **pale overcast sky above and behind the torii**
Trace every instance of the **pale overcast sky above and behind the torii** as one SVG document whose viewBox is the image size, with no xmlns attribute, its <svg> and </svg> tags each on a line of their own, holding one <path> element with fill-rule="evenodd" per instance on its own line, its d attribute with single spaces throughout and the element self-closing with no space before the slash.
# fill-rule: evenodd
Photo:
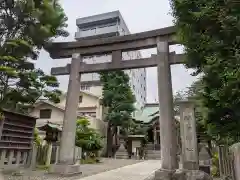
<svg viewBox="0 0 240 180">
<path fill-rule="evenodd" d="M 60 0 L 68 17 L 70 37 L 61 38 L 58 41 L 74 40 L 76 32 L 76 19 L 95 14 L 119 10 L 130 29 L 131 33 L 148 31 L 173 25 L 173 17 L 168 0 Z M 181 52 L 181 47 L 172 47 L 172 50 Z M 155 52 L 155 51 L 151 51 Z M 144 53 L 144 56 L 148 56 Z M 42 51 L 37 61 L 37 67 L 50 72 L 51 67 L 61 66 L 69 62 L 66 59 L 52 60 L 48 53 Z M 174 93 L 184 90 L 196 79 L 190 75 L 191 71 L 183 65 L 172 66 L 172 84 Z M 66 90 L 66 77 L 59 78 L 60 87 Z M 157 95 L 157 71 L 156 68 L 147 69 L 147 101 L 155 102 Z"/>
</svg>

